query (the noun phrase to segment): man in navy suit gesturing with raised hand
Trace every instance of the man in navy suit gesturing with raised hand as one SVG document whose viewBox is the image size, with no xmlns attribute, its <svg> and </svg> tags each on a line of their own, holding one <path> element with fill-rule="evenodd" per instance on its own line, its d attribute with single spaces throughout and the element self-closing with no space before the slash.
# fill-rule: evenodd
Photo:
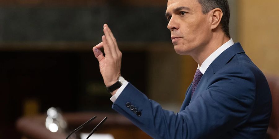
<svg viewBox="0 0 279 139">
<path fill-rule="evenodd" d="M 169 0 L 166 17 L 176 53 L 198 63 L 180 112 L 162 109 L 120 76 L 122 54 L 105 24 L 103 42 L 93 52 L 113 95 L 112 108 L 156 139 L 263 139 L 270 90 L 263 73 L 230 39 L 228 1 Z"/>
</svg>

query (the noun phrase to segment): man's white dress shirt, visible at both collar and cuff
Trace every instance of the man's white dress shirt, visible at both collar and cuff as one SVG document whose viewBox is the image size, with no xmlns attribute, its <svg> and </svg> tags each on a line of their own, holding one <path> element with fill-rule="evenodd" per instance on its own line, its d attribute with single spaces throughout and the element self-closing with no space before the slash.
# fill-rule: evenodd
<svg viewBox="0 0 279 139">
<path fill-rule="evenodd" d="M 234 44 L 233 40 L 230 39 L 225 44 L 220 46 L 216 51 L 214 51 L 209 57 L 206 58 L 205 61 L 200 65 L 198 65 L 197 69 L 200 69 L 201 73 L 204 74 L 209 67 L 209 65 L 226 49 L 231 47 Z M 125 87 L 128 85 L 129 82 L 125 81 L 122 86 L 116 91 L 116 93 L 110 98 L 110 100 L 114 103 L 118 96 L 122 93 L 122 91 L 125 89 Z"/>
</svg>

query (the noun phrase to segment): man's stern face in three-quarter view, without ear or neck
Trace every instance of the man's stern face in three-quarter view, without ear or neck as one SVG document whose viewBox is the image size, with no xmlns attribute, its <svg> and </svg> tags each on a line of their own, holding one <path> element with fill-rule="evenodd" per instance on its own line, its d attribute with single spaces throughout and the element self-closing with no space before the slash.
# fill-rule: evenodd
<svg viewBox="0 0 279 139">
<path fill-rule="evenodd" d="M 176 53 L 196 55 L 209 42 L 210 17 L 197 0 L 169 0 L 166 17 Z"/>
</svg>

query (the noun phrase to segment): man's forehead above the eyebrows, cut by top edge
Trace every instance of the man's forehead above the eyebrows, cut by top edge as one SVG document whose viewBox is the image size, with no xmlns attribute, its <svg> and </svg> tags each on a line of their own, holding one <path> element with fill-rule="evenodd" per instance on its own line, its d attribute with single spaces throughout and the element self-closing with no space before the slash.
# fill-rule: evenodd
<svg viewBox="0 0 279 139">
<path fill-rule="evenodd" d="M 167 12 L 171 12 L 177 7 L 188 7 L 191 10 L 196 10 L 201 8 L 201 5 L 198 3 L 198 0 L 168 0 Z"/>
</svg>

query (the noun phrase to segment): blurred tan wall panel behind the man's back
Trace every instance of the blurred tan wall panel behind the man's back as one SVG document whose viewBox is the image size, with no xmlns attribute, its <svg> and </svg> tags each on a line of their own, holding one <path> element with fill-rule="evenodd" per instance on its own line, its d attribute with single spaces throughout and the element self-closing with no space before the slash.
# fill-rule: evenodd
<svg viewBox="0 0 279 139">
<path fill-rule="evenodd" d="M 239 39 L 264 74 L 279 75 L 278 0 L 239 1 Z"/>
</svg>

